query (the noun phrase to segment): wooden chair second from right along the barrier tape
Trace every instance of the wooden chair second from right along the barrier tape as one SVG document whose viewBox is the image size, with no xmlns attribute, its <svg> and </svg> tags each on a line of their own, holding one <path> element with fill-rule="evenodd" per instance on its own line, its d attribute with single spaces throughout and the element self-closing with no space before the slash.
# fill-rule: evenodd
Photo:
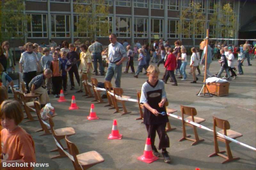
<svg viewBox="0 0 256 170">
<path fill-rule="evenodd" d="M 196 113 L 196 108 L 194 108 L 194 107 L 187 107 L 187 106 L 180 105 L 180 110 L 181 110 L 181 115 L 182 115 L 182 120 L 181 121 L 182 121 L 183 137 L 179 141 L 183 141 L 185 139 L 193 141 L 193 143 L 191 145 L 195 145 L 195 144 L 198 144 L 199 142 L 204 141 L 204 139 L 199 140 L 197 130 L 196 130 L 196 126 L 184 121 L 184 119 L 185 119 L 184 115 L 188 115 L 188 117 L 186 117 L 186 119 L 188 119 L 189 121 L 196 122 L 198 124 L 204 122 L 205 119 L 200 118 L 200 117 L 196 117 L 197 113 Z M 195 139 L 189 138 L 189 137 L 191 137 L 190 135 L 187 136 L 185 125 L 190 126 L 194 129 Z"/>
</svg>

